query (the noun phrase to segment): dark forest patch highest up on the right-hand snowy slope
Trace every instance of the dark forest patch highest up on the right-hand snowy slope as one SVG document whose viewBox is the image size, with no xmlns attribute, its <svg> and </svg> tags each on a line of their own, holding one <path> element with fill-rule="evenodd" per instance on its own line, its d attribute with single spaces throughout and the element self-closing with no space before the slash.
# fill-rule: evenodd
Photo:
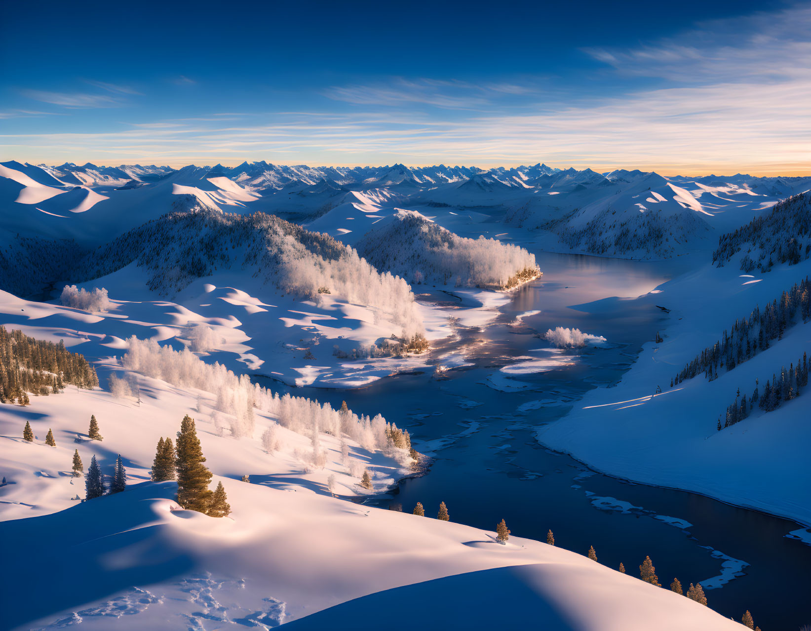
<svg viewBox="0 0 811 631">
<path fill-rule="evenodd" d="M 740 261 L 740 268 L 746 273 L 755 268 L 768 272 L 775 263 L 793 265 L 808 259 L 811 255 L 811 243 L 803 247 L 800 237 L 809 234 L 811 193 L 805 192 L 775 204 L 768 214 L 753 219 L 735 232 L 722 234 L 712 260 L 723 267 L 724 261 L 732 259 L 749 244 L 749 251 Z"/>
</svg>

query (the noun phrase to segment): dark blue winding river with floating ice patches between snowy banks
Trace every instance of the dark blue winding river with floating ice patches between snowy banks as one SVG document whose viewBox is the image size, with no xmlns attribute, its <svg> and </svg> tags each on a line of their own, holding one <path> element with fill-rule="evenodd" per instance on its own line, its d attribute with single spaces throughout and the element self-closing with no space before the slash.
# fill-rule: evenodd
<svg viewBox="0 0 811 631">
<path fill-rule="evenodd" d="M 725 616 L 740 620 L 749 609 L 764 631 L 811 623 L 811 547 L 785 537 L 799 527 L 794 522 L 595 474 L 535 440 L 536 427 L 560 419 L 588 389 L 620 380 L 642 344 L 665 328 L 667 315 L 655 301 L 628 297 L 674 273 L 672 263 L 668 271 L 581 255 L 541 255 L 539 264 L 543 278 L 514 294 L 493 323 L 460 327 L 456 339 L 433 350 L 436 363 L 461 350 L 472 366 L 442 380 L 427 371 L 361 390 L 296 390 L 333 406 L 345 400 L 358 413 L 380 412 L 434 458 L 427 475 L 372 502 L 410 512 L 420 501 L 434 516 L 444 501 L 454 522 L 495 530 L 504 518 L 513 534 L 541 541 L 551 529 L 556 545 L 581 554 L 593 545 L 600 563 L 622 562 L 635 576 L 650 555 L 663 586 L 673 577 L 685 590 L 701 582 L 710 606 Z M 539 350 L 548 345 L 538 336 L 556 326 L 606 337 L 607 348 Z M 521 367 L 550 357 L 570 364 L 546 372 Z"/>
</svg>

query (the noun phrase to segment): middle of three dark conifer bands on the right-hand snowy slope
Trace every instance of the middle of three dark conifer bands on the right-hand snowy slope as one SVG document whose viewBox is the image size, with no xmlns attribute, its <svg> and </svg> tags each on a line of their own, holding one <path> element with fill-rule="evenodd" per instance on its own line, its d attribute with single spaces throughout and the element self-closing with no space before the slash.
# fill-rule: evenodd
<svg viewBox="0 0 811 631">
<path fill-rule="evenodd" d="M 739 363 L 753 358 L 766 350 L 770 341 L 780 339 L 787 328 L 795 324 L 797 311 L 803 322 L 811 318 L 811 285 L 808 277 L 783 291 L 761 311 L 756 306 L 748 318 L 736 320 L 732 328 L 724 330 L 723 337 L 713 346 L 707 346 L 697 354 L 671 381 L 671 388 L 685 379 L 692 379 L 703 372 L 710 381 L 717 379 L 719 368 L 731 371 Z"/>
</svg>

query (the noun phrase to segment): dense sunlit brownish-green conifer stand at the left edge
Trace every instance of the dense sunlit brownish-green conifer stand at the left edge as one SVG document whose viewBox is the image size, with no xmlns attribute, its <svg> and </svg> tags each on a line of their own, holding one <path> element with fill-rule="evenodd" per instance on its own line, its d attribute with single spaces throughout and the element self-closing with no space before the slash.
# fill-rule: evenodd
<svg viewBox="0 0 811 631">
<path fill-rule="evenodd" d="M 58 393 L 65 384 L 94 388 L 96 369 L 60 341 L 35 340 L 0 326 L 0 403 L 28 402 L 28 394 Z"/>
</svg>

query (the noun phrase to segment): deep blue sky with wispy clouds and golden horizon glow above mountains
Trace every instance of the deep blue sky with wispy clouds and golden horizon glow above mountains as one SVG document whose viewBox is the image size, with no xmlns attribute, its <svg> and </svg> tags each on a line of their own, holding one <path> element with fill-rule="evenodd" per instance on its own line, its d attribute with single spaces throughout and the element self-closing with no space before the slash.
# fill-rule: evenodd
<svg viewBox="0 0 811 631">
<path fill-rule="evenodd" d="M 6 3 L 0 157 L 811 172 L 811 4 Z"/>
</svg>

